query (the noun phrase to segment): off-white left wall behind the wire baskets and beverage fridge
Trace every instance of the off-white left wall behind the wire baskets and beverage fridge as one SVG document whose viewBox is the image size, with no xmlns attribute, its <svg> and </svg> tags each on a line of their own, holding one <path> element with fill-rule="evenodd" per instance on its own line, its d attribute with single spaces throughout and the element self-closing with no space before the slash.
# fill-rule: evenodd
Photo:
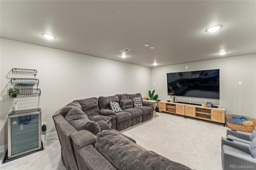
<svg viewBox="0 0 256 170">
<path fill-rule="evenodd" d="M 0 146 L 7 144 L 7 115 L 13 111 L 14 100 L 19 110 L 40 107 L 42 122 L 51 133 L 56 131 L 52 114 L 73 100 L 122 93 L 147 96 L 150 89 L 148 67 L 3 38 L 0 41 Z M 6 90 L 14 77 L 12 68 L 36 69 L 41 96 L 10 99 Z"/>
</svg>

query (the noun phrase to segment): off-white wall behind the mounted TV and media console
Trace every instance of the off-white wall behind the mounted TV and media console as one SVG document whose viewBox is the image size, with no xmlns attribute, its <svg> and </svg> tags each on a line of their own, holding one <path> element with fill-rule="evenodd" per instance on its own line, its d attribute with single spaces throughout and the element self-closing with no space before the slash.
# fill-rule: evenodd
<svg viewBox="0 0 256 170">
<path fill-rule="evenodd" d="M 188 66 L 188 69 L 185 67 Z M 160 100 L 168 100 L 166 73 L 220 69 L 220 99 L 179 97 L 178 101 L 200 103 L 206 101 L 226 108 L 226 114 L 256 118 L 256 54 L 226 57 L 192 63 L 152 68 L 151 89 Z M 242 85 L 238 85 L 242 81 Z M 154 85 L 154 82 L 156 85 Z"/>
</svg>

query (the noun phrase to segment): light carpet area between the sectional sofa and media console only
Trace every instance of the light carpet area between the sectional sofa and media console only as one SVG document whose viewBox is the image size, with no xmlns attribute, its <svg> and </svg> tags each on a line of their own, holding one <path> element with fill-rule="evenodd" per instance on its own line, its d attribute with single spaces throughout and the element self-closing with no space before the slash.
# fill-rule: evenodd
<svg viewBox="0 0 256 170">
<path fill-rule="evenodd" d="M 222 170 L 223 124 L 157 113 L 153 119 L 121 132 L 137 144 L 196 170 Z"/>
</svg>

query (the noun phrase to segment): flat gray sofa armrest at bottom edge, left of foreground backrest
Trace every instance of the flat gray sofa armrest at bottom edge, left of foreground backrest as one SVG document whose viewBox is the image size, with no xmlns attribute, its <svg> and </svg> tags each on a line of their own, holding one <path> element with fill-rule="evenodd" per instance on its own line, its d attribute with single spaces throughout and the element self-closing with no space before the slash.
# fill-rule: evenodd
<svg viewBox="0 0 256 170">
<path fill-rule="evenodd" d="M 116 168 L 92 145 L 80 149 L 78 151 L 77 160 L 80 170 L 116 170 Z"/>
</svg>

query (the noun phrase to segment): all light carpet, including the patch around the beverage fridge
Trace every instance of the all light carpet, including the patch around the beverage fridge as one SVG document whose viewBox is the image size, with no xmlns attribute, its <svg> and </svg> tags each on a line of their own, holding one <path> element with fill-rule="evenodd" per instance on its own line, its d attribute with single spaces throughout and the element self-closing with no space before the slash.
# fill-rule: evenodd
<svg viewBox="0 0 256 170">
<path fill-rule="evenodd" d="M 144 123 L 122 130 L 147 150 L 196 170 L 221 170 L 223 124 L 157 113 Z M 2 164 L 1 170 L 65 170 L 58 140 L 43 141 L 44 150 Z"/>
</svg>

